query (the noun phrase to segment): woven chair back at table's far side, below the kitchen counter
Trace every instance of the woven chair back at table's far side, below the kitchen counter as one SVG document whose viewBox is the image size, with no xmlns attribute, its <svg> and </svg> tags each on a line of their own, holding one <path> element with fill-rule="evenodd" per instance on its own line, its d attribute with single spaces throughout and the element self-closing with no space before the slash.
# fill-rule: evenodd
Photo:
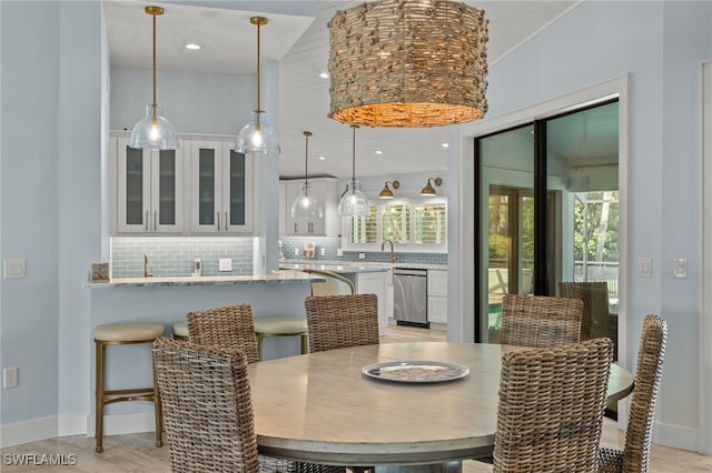
<svg viewBox="0 0 712 473">
<path fill-rule="evenodd" d="M 312 295 L 305 306 L 312 352 L 379 343 L 376 294 Z"/>
</svg>

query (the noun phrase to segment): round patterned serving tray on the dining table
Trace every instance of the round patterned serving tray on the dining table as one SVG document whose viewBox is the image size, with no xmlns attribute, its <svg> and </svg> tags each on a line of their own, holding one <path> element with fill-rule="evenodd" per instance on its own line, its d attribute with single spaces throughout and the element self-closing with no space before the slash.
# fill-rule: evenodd
<svg viewBox="0 0 712 473">
<path fill-rule="evenodd" d="M 459 380 L 469 373 L 469 369 L 444 361 L 390 361 L 364 366 L 362 373 L 376 380 L 399 383 L 438 383 Z"/>
</svg>

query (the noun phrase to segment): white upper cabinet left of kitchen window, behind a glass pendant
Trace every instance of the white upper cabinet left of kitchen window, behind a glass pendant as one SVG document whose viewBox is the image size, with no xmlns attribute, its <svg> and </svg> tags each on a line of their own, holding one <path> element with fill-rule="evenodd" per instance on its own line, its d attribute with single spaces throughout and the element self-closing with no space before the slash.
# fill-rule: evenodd
<svg viewBox="0 0 712 473">
<path fill-rule="evenodd" d="M 291 218 L 291 204 L 301 192 L 304 179 L 279 181 L 279 234 L 303 236 L 338 236 L 338 180 L 309 179 L 310 191 L 322 205 L 322 218 L 299 220 Z"/>
</svg>

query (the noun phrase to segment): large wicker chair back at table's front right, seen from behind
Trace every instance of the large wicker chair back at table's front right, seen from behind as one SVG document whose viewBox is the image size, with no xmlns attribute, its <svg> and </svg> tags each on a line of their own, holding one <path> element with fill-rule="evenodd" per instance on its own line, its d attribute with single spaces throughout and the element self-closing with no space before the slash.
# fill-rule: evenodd
<svg viewBox="0 0 712 473">
<path fill-rule="evenodd" d="M 494 472 L 594 472 L 613 343 L 507 352 L 502 359 Z"/>
</svg>

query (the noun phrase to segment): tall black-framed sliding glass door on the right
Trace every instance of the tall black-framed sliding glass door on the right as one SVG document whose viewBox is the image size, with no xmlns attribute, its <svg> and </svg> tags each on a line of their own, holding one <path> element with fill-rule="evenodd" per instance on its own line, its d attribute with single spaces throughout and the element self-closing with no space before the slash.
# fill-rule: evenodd
<svg viewBox="0 0 712 473">
<path fill-rule="evenodd" d="M 605 283 L 615 336 L 617 129 L 609 101 L 476 138 L 475 340 L 498 341 L 504 294 L 566 295 L 562 282 Z"/>
</svg>

